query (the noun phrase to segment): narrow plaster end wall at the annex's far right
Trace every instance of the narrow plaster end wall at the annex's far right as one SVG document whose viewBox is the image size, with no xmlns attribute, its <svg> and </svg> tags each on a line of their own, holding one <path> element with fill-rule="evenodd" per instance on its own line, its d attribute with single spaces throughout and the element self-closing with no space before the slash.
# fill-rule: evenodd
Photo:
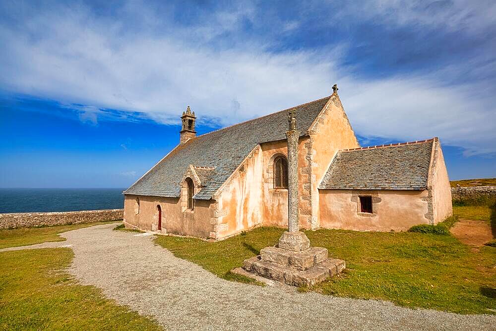
<svg viewBox="0 0 496 331">
<path fill-rule="evenodd" d="M 434 138 L 433 160 L 431 164 L 432 175 L 430 185 L 433 189 L 432 198 L 434 203 L 434 224 L 442 222 L 446 217 L 453 214 L 451 203 L 451 188 L 449 186 L 448 171 L 444 163 L 441 144 Z"/>
</svg>

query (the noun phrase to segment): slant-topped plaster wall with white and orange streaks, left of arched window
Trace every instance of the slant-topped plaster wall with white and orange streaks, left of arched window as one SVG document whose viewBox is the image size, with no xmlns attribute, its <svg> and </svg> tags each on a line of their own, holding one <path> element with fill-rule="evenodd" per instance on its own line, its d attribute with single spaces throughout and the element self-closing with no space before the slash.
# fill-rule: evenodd
<svg viewBox="0 0 496 331">
<path fill-rule="evenodd" d="M 214 197 L 217 212 L 211 237 L 224 238 L 262 223 L 262 164 L 262 151 L 257 146 Z"/>
</svg>

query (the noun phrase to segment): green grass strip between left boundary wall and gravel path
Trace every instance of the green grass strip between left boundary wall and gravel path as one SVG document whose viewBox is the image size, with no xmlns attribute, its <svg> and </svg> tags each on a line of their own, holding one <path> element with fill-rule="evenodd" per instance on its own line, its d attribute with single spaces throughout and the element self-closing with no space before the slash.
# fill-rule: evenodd
<svg viewBox="0 0 496 331">
<path fill-rule="evenodd" d="M 65 241 L 59 233 L 112 222 L 115 221 L 0 230 L 0 248 Z"/>
</svg>

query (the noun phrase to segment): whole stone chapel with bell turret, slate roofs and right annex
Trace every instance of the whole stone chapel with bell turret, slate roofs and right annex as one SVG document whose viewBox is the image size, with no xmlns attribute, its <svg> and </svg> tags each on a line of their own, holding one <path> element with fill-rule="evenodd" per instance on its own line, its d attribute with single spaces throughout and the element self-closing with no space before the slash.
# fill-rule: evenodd
<svg viewBox="0 0 496 331">
<path fill-rule="evenodd" d="M 300 132 L 300 228 L 405 231 L 450 216 L 439 139 L 361 147 L 333 90 L 199 136 L 188 106 L 179 144 L 124 191 L 125 226 L 213 240 L 287 227 L 288 112 Z"/>
</svg>

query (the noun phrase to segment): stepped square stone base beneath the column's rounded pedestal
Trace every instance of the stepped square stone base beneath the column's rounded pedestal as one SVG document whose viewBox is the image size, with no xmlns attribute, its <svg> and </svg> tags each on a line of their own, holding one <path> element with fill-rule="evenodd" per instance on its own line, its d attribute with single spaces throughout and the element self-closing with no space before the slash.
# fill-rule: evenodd
<svg viewBox="0 0 496 331">
<path fill-rule="evenodd" d="M 327 250 L 322 247 L 297 252 L 265 247 L 259 256 L 243 263 L 243 269 L 252 274 L 293 286 L 315 285 L 340 273 L 345 267 L 343 260 L 328 259 Z"/>
</svg>

